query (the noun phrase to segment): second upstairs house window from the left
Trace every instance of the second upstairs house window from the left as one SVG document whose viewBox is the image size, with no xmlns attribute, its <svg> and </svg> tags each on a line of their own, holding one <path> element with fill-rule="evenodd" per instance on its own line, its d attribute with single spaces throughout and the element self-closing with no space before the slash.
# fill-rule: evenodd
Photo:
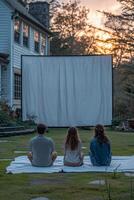
<svg viewBox="0 0 134 200">
<path fill-rule="evenodd" d="M 29 26 L 26 23 L 23 23 L 23 45 L 29 46 Z"/>
</svg>

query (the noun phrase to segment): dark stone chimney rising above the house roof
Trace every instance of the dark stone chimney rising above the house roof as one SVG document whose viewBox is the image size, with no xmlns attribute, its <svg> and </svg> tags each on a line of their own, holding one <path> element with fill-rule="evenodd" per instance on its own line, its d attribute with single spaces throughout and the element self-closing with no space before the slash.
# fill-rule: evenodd
<svg viewBox="0 0 134 200">
<path fill-rule="evenodd" d="M 29 13 L 46 28 L 49 28 L 49 4 L 47 2 L 37 1 L 29 3 Z"/>
</svg>

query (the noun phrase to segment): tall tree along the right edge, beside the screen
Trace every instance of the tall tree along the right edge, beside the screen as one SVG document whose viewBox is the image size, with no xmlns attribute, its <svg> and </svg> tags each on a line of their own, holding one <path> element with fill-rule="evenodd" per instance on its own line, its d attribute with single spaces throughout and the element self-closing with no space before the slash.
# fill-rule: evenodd
<svg viewBox="0 0 134 200">
<path fill-rule="evenodd" d="M 109 38 L 104 44 L 112 44 L 114 58 L 114 108 L 115 115 L 134 117 L 134 1 L 117 0 L 120 13 L 103 11 L 106 17 L 105 33 Z"/>
</svg>

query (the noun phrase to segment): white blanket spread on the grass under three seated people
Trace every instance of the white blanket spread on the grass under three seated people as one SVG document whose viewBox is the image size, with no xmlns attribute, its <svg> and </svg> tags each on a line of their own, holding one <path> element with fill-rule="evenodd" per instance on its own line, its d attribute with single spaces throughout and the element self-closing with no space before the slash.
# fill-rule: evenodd
<svg viewBox="0 0 134 200">
<path fill-rule="evenodd" d="M 109 167 L 92 166 L 89 156 L 84 157 L 84 165 L 67 167 L 63 165 L 63 156 L 58 156 L 51 167 L 34 167 L 27 156 L 16 157 L 6 168 L 7 173 L 54 173 L 54 172 L 134 172 L 134 156 L 113 156 Z"/>
</svg>

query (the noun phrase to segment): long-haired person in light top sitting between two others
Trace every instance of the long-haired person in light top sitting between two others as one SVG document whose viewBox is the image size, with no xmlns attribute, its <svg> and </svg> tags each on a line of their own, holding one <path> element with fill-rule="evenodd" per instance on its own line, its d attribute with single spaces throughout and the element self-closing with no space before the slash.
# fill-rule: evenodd
<svg viewBox="0 0 134 200">
<path fill-rule="evenodd" d="M 68 129 L 64 147 L 64 165 L 81 166 L 83 165 L 82 143 L 75 127 Z"/>
</svg>

